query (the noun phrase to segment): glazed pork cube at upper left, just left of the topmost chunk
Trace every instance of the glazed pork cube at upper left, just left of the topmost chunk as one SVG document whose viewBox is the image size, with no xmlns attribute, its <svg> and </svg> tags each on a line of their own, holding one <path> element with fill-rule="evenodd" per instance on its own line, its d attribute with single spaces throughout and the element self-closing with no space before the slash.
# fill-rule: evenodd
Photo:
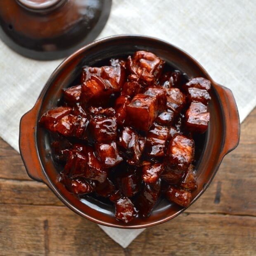
<svg viewBox="0 0 256 256">
<path fill-rule="evenodd" d="M 106 81 L 109 81 L 114 92 L 119 92 L 126 79 L 126 71 L 121 65 L 103 66 L 100 75 Z"/>
</svg>

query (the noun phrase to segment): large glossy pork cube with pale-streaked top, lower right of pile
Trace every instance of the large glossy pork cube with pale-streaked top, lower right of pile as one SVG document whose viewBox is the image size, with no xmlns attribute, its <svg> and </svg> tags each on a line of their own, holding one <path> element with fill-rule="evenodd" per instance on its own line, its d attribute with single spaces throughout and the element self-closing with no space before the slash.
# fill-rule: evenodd
<svg viewBox="0 0 256 256">
<path fill-rule="evenodd" d="M 175 135 L 166 151 L 166 165 L 177 170 L 186 170 L 194 159 L 194 140 L 184 135 Z"/>
</svg>

